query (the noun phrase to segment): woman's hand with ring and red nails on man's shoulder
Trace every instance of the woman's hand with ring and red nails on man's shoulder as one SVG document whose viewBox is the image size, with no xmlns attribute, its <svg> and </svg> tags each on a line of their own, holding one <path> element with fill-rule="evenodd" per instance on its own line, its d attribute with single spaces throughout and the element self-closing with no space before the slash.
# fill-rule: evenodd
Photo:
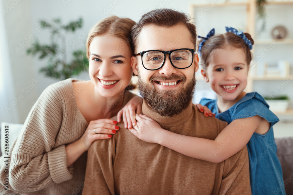
<svg viewBox="0 0 293 195">
<path fill-rule="evenodd" d="M 84 151 L 87 151 L 93 141 L 97 139 L 109 139 L 112 137 L 112 134 L 115 134 L 117 130 L 119 130 L 119 127 L 116 126 L 117 121 L 110 120 L 110 119 L 98 119 L 98 120 L 92 120 L 88 127 L 86 128 L 86 131 L 79 139 L 80 144 Z M 95 132 L 96 130 L 96 132 Z"/>
</svg>

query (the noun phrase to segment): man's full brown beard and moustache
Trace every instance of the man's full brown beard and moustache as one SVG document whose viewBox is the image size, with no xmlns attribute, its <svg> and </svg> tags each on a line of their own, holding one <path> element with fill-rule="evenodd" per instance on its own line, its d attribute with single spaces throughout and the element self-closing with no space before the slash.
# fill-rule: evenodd
<svg viewBox="0 0 293 195">
<path fill-rule="evenodd" d="M 150 83 L 144 82 L 138 71 L 138 90 L 146 103 L 161 116 L 173 116 L 180 114 L 186 109 L 193 98 L 195 89 L 195 74 L 190 82 L 180 89 L 157 89 L 153 81 L 181 80 L 182 85 L 186 82 L 183 75 L 171 75 L 170 77 L 151 76 Z"/>
</svg>

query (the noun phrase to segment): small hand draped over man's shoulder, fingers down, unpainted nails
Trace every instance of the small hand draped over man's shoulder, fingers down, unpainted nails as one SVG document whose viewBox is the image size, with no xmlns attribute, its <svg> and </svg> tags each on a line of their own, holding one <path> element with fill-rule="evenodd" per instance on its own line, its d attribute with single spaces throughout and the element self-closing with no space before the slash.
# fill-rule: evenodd
<svg viewBox="0 0 293 195">
<path fill-rule="evenodd" d="M 127 104 L 118 112 L 117 122 L 121 122 L 121 115 L 125 129 L 131 128 L 136 124 L 135 111 L 140 114 L 142 111 L 142 98 L 139 96 L 133 97 Z"/>
</svg>

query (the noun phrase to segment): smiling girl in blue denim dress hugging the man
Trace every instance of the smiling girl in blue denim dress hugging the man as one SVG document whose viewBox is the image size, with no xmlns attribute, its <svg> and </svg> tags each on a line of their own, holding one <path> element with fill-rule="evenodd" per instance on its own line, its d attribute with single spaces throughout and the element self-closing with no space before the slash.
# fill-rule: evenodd
<svg viewBox="0 0 293 195">
<path fill-rule="evenodd" d="M 279 119 L 257 92 L 244 92 L 253 39 L 234 28 L 226 27 L 226 31 L 214 35 L 214 29 L 211 30 L 207 38 L 202 37 L 198 49 L 204 80 L 217 93 L 216 100 L 203 98 L 200 103 L 229 123 L 217 138 L 184 136 L 182 141 L 171 145 L 178 134 L 162 129 L 153 119 L 141 114 L 136 115 L 136 125 L 132 124 L 135 126 L 130 131 L 144 141 L 214 163 L 231 157 L 247 144 L 252 194 L 285 194 L 272 129 Z M 136 101 L 139 103 L 138 98 Z"/>
</svg>

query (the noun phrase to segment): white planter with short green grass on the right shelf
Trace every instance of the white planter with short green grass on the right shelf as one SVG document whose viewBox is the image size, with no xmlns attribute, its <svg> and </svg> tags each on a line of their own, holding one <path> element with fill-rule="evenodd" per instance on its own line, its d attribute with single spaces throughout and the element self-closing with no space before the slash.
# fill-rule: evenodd
<svg viewBox="0 0 293 195">
<path fill-rule="evenodd" d="M 264 97 L 272 112 L 286 112 L 289 105 L 289 97 L 286 95 Z"/>
</svg>

